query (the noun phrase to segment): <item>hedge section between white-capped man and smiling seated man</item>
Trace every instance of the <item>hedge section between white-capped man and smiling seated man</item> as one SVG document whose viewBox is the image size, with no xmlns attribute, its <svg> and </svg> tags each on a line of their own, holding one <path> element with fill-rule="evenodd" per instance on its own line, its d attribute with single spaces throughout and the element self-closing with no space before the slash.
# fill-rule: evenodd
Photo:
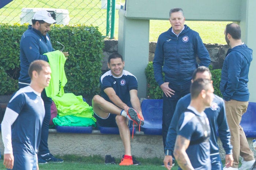
<svg viewBox="0 0 256 170">
<path fill-rule="evenodd" d="M 56 42 L 65 46 L 69 57 L 65 62 L 68 79 L 66 93 L 92 98 L 99 94 L 104 42 L 97 27 L 78 24 L 75 26 L 51 26 L 49 32 L 54 49 L 61 49 Z"/>
</svg>

